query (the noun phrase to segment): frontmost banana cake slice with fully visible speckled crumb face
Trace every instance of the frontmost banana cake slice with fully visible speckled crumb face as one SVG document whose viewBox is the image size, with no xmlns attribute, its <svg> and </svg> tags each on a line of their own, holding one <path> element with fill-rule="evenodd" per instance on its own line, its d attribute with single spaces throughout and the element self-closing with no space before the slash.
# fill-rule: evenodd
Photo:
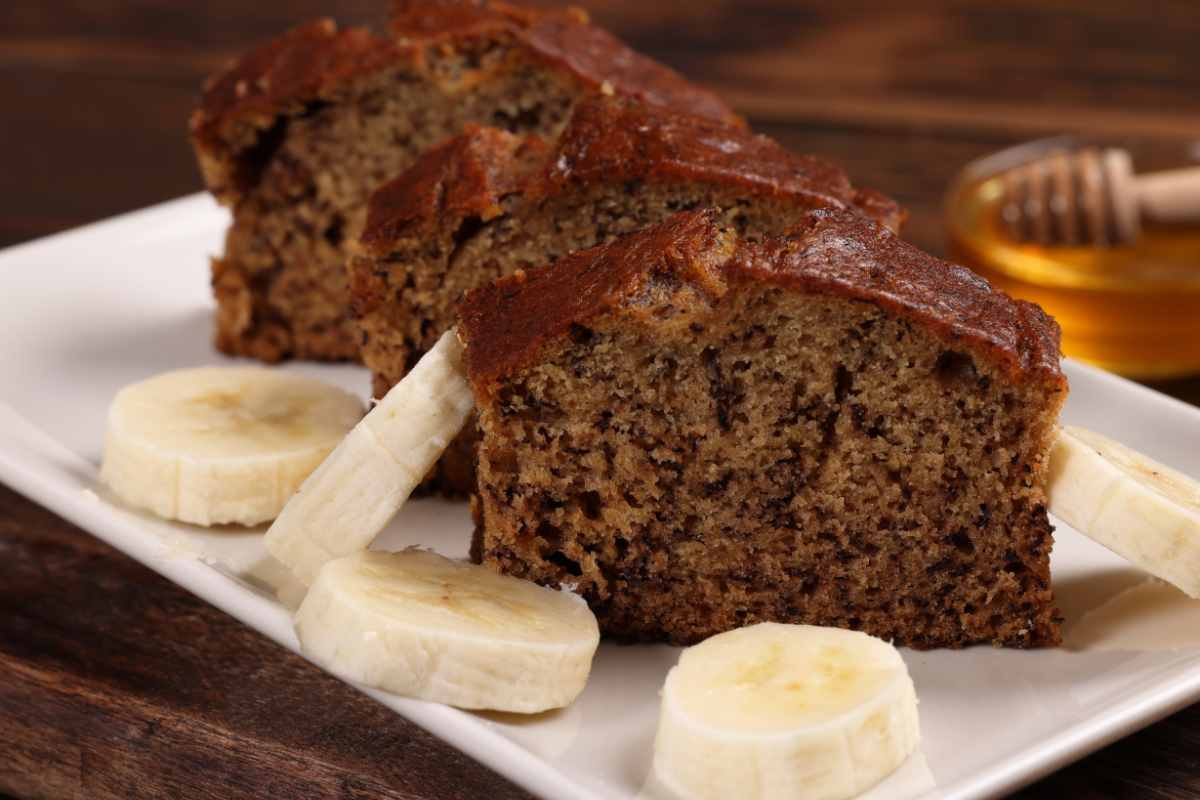
<svg viewBox="0 0 1200 800">
<path fill-rule="evenodd" d="M 610 636 L 763 620 L 914 648 L 1060 640 L 1046 458 L 1058 327 L 846 210 L 710 210 L 461 307 L 473 557 Z"/>
</svg>

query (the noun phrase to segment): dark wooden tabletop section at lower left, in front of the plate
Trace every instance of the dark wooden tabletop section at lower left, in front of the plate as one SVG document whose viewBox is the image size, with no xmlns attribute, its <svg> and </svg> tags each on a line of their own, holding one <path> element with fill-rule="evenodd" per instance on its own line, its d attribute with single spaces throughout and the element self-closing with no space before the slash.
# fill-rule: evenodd
<svg viewBox="0 0 1200 800">
<path fill-rule="evenodd" d="M 0 487 L 0 792 L 526 798 Z"/>
</svg>

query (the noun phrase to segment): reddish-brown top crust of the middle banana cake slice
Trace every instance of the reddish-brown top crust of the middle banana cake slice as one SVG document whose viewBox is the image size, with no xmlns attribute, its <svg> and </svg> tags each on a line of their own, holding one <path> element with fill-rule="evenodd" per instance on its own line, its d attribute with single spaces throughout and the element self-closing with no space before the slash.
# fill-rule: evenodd
<svg viewBox="0 0 1200 800">
<path fill-rule="evenodd" d="M 517 191 L 545 199 L 588 186 L 642 181 L 725 186 L 798 207 L 856 207 L 893 230 L 904 218 L 894 200 L 851 186 L 827 161 L 791 154 L 764 136 L 623 98 L 581 102 L 553 150 L 538 143 L 544 152 L 540 169 L 530 163 L 538 150 L 518 152 L 511 143 L 497 146 L 498 140 L 494 131 L 472 128 L 377 190 L 362 242 L 382 257 L 390 242 L 452 218 L 445 215 L 451 207 L 430 201 L 452 180 L 461 181 L 455 203 L 473 213 Z M 460 173 L 470 180 L 462 181 Z"/>
</svg>

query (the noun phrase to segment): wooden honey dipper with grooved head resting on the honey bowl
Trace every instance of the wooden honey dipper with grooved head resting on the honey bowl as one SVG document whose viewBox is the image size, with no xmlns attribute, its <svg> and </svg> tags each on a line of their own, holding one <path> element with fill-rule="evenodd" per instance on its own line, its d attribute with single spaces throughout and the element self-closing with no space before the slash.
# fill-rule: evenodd
<svg viewBox="0 0 1200 800">
<path fill-rule="evenodd" d="M 1128 245 L 1141 222 L 1200 222 L 1200 167 L 1135 175 L 1126 150 L 1060 151 L 1003 176 L 1001 217 L 1016 241 Z"/>
</svg>

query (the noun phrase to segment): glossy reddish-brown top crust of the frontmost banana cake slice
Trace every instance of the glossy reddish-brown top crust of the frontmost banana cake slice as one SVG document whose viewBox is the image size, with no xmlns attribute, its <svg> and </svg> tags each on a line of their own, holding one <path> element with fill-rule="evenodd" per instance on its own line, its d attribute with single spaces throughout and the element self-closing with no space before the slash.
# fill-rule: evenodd
<svg viewBox="0 0 1200 800">
<path fill-rule="evenodd" d="M 636 307 L 654 282 L 684 282 L 716 301 L 745 282 L 860 300 L 928 326 L 1002 365 L 1014 381 L 1066 387 L 1057 323 L 965 267 L 844 210 L 817 209 L 787 236 L 743 242 L 709 211 L 660 225 L 478 289 L 460 306 L 476 391 L 538 360 L 572 325 Z"/>
</svg>

